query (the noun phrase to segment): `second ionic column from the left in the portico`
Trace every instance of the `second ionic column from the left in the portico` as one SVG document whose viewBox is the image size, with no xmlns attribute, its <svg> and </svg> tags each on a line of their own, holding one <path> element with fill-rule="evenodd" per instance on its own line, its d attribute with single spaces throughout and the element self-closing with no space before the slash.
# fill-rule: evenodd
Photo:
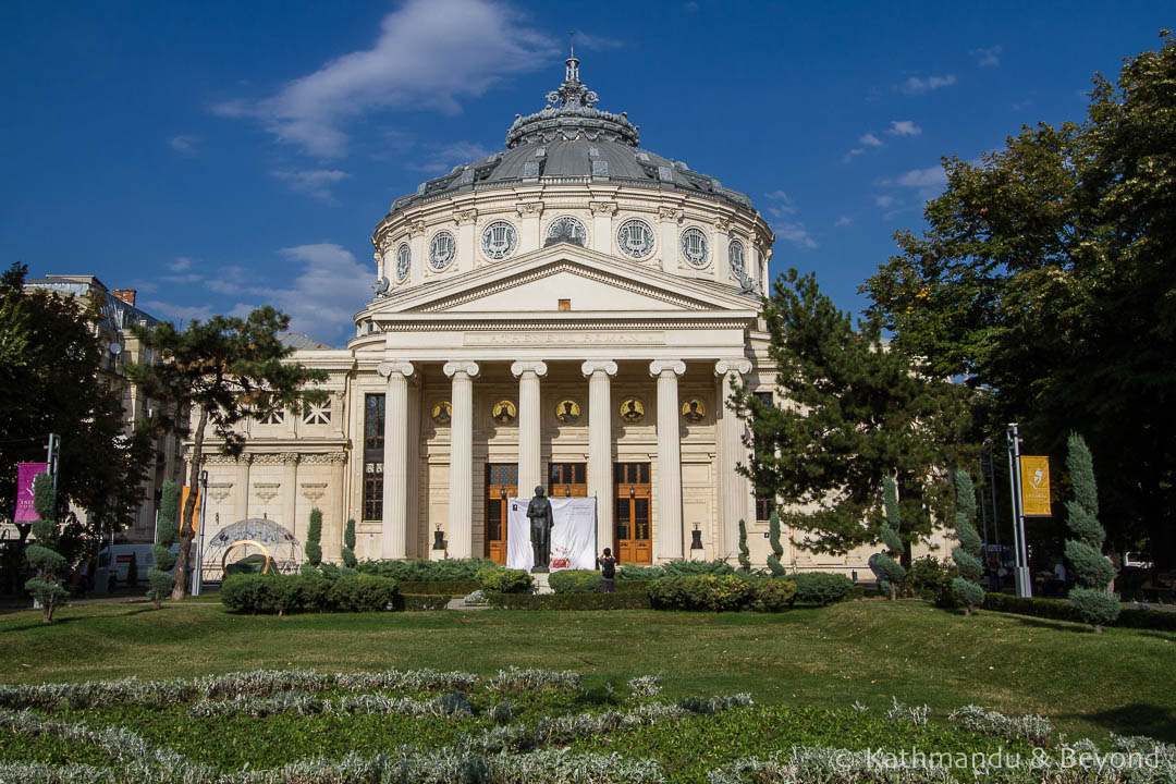
<svg viewBox="0 0 1176 784">
<path fill-rule="evenodd" d="M 449 406 L 449 555 L 468 558 L 474 550 L 474 377 L 476 362 L 446 362 L 453 378 Z"/>
</svg>

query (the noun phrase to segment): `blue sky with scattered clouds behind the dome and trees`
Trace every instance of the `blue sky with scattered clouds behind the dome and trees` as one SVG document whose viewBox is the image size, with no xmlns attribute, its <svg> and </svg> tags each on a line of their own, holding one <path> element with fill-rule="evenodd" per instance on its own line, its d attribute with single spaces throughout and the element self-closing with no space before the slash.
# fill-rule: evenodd
<svg viewBox="0 0 1176 784">
<path fill-rule="evenodd" d="M 1174 26 L 1171 2 L 8 0 L 0 262 L 181 321 L 270 303 L 342 344 L 388 205 L 501 149 L 575 29 L 600 107 L 748 193 L 773 275 L 856 310 L 940 156 L 1081 120 L 1094 72 Z"/>
</svg>

